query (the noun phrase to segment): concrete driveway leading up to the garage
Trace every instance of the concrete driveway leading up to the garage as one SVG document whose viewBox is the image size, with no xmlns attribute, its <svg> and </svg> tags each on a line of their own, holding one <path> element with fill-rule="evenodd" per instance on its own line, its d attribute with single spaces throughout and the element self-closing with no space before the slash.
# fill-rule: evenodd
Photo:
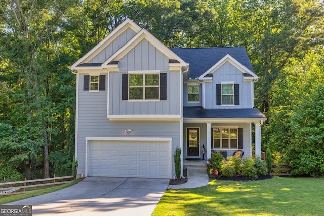
<svg viewBox="0 0 324 216">
<path fill-rule="evenodd" d="M 6 205 L 32 205 L 33 215 L 151 215 L 169 179 L 87 177 L 76 185 Z"/>
</svg>

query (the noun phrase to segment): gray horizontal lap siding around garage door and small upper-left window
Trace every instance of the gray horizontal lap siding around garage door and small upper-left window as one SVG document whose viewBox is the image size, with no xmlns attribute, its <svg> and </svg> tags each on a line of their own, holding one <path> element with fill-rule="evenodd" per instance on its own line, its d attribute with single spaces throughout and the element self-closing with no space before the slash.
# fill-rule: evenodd
<svg viewBox="0 0 324 216">
<path fill-rule="evenodd" d="M 180 147 L 180 121 L 109 121 L 107 87 L 100 92 L 83 90 L 83 76 L 78 74 L 77 160 L 78 173 L 85 174 L 86 137 L 166 137 L 172 138 L 172 158 Z M 101 73 L 101 75 L 107 74 Z M 132 131 L 127 134 L 125 129 Z M 172 176 L 175 175 L 172 161 Z"/>
</svg>

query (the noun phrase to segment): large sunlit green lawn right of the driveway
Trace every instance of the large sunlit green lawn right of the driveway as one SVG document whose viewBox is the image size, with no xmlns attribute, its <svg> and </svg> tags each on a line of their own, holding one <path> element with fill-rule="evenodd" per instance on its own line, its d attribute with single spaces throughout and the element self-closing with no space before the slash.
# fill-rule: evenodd
<svg viewBox="0 0 324 216">
<path fill-rule="evenodd" d="M 235 182 L 166 191 L 152 215 L 323 215 L 324 178 Z"/>
</svg>

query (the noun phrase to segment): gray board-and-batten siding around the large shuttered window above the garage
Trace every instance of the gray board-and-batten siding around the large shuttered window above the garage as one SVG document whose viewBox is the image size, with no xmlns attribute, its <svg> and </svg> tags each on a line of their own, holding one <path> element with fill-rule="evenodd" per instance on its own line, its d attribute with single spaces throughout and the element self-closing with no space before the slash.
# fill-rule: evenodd
<svg viewBox="0 0 324 216">
<path fill-rule="evenodd" d="M 136 53 L 136 55 L 135 55 Z M 121 72 L 109 74 L 109 115 L 179 115 L 179 71 L 169 71 L 169 58 L 143 39 L 119 61 Z M 167 73 L 167 100 L 129 102 L 121 100 L 121 74 L 129 70 L 160 70 Z"/>
</svg>

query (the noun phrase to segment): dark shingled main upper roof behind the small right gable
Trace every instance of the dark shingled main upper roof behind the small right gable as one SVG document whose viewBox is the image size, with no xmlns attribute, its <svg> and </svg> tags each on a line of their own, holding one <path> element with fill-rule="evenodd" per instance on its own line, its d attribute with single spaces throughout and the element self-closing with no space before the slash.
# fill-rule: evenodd
<svg viewBox="0 0 324 216">
<path fill-rule="evenodd" d="M 171 50 L 190 64 L 190 78 L 192 79 L 199 77 L 227 54 L 254 72 L 244 47 L 174 48 Z"/>
</svg>

